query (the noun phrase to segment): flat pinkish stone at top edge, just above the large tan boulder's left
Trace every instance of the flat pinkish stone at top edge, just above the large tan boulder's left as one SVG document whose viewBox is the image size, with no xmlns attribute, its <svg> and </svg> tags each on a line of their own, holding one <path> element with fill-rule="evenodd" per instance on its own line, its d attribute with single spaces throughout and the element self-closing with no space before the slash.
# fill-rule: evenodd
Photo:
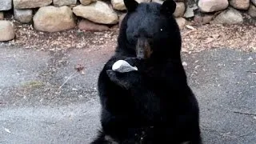
<svg viewBox="0 0 256 144">
<path fill-rule="evenodd" d="M 14 8 L 16 9 L 30 9 L 42 6 L 48 6 L 52 0 L 13 0 Z"/>
</svg>

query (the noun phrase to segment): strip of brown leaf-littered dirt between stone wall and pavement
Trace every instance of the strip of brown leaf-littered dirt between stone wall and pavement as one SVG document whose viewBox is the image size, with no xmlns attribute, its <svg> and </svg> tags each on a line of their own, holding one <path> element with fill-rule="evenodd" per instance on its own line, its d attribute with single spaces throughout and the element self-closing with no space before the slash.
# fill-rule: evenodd
<svg viewBox="0 0 256 144">
<path fill-rule="evenodd" d="M 0 46 L 21 46 L 35 50 L 84 49 L 90 46 L 102 46 L 115 42 L 118 29 L 111 28 L 102 32 L 65 30 L 48 33 L 34 30 L 32 24 L 21 24 L 12 20 L 16 26 L 16 38 L 10 42 L 2 42 Z M 256 51 L 256 23 L 245 22 L 238 25 L 203 26 L 190 22 L 182 30 L 182 52 L 191 53 L 213 48 L 229 47 L 232 49 Z"/>
</svg>

